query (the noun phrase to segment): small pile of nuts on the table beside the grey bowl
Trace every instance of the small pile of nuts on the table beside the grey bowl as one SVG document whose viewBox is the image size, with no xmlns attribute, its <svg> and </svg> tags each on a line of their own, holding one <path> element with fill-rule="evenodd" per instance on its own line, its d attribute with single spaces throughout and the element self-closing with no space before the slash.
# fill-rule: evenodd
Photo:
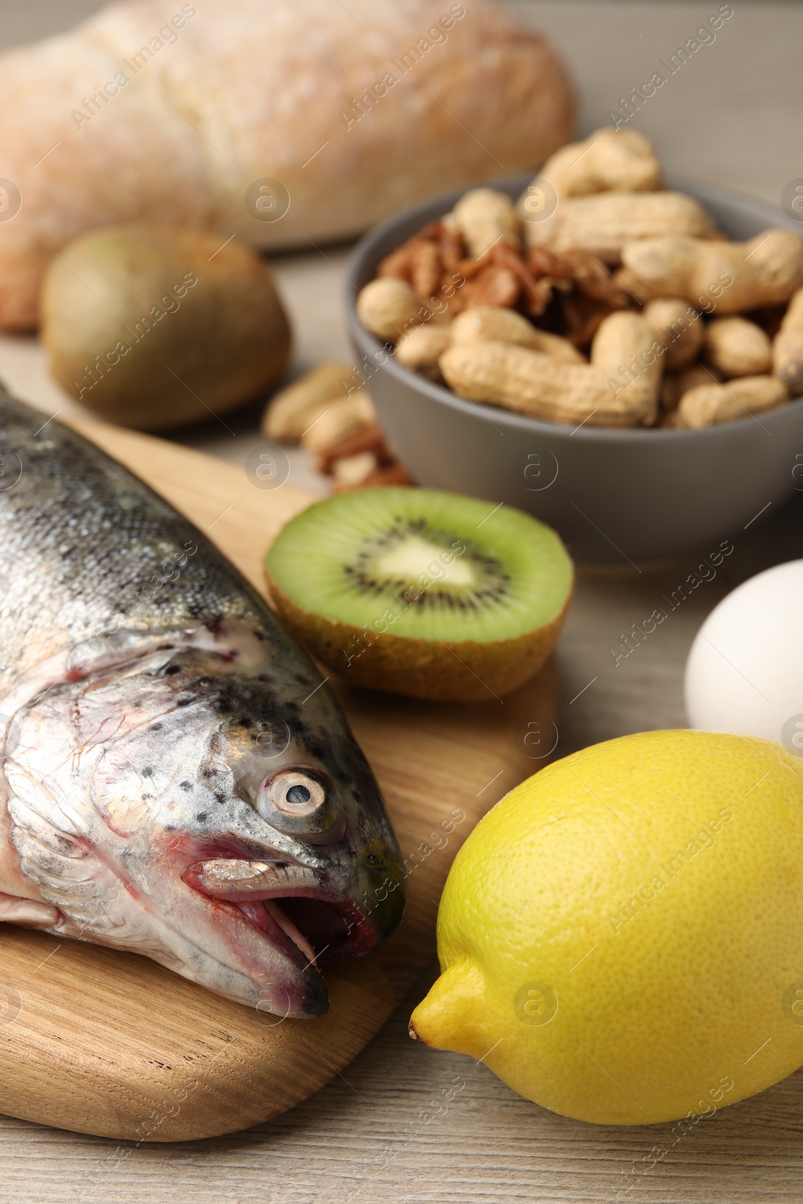
<svg viewBox="0 0 803 1204">
<path fill-rule="evenodd" d="M 315 468 L 330 478 L 333 492 L 413 484 L 385 447 L 365 383 L 348 364 L 321 364 L 277 393 L 262 432 L 313 452 Z"/>
</svg>

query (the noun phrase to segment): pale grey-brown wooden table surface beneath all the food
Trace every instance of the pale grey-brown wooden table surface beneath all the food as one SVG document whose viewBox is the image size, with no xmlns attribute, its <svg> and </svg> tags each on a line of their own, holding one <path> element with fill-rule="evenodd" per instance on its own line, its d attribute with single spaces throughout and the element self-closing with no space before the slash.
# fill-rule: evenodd
<svg viewBox="0 0 803 1204">
<path fill-rule="evenodd" d="M 332 0 L 335 2 L 335 0 Z M 385 0 L 389 2 L 389 0 Z M 90 13 L 98 4 L 83 0 Z M 518 7 L 562 49 L 580 94 L 580 131 L 606 114 L 659 58 L 693 35 L 719 2 L 524 0 Z M 633 123 L 655 138 L 668 171 L 724 183 L 778 205 L 803 176 L 798 60 L 803 10 L 733 0 L 733 16 Z M 77 19 L 71 0 L 0 10 L 0 45 Z M 344 249 L 284 255 L 274 267 L 297 331 L 294 371 L 348 354 L 339 314 Z M 53 413 L 66 399 L 48 382 L 30 340 L 0 337 L 0 378 Z M 262 442 L 256 415 L 231 436 L 205 426 L 182 441 L 242 464 Z M 294 483 L 321 489 L 303 458 Z M 563 708 L 559 754 L 645 728 L 683 726 L 681 681 L 704 615 L 738 582 L 803 555 L 803 495 L 746 531 L 719 576 L 673 610 L 642 647 L 614 666 L 609 648 L 649 615 L 696 567 L 673 562 L 580 572 L 559 654 Z M 704 554 L 708 549 L 701 548 Z M 581 692 L 580 692 L 581 691 Z M 0 1199 L 19 1204 L 134 1200 L 163 1204 L 419 1204 L 419 1202 L 614 1202 L 772 1204 L 803 1199 L 803 1072 L 762 1096 L 701 1122 L 686 1137 L 671 1126 L 604 1128 L 554 1116 L 525 1102 L 483 1066 L 426 1050 L 407 1019 L 435 967 L 374 1041 L 330 1086 L 277 1121 L 188 1145 L 140 1146 L 120 1161 L 113 1143 L 0 1119 Z M 436 1092 L 466 1082 L 447 1115 L 426 1121 Z"/>
</svg>

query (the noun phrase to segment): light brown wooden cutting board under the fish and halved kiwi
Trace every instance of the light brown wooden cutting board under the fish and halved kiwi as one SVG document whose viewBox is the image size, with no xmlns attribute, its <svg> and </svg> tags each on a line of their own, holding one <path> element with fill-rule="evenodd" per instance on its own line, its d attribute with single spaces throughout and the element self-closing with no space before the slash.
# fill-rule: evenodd
<svg viewBox="0 0 803 1204">
<path fill-rule="evenodd" d="M 163 439 L 73 425 L 264 589 L 265 548 L 311 495 L 256 488 L 242 468 Z M 400 929 L 376 954 L 327 969 L 325 1016 L 277 1022 L 146 957 L 0 925 L 0 1111 L 135 1143 L 230 1133 L 306 1099 L 380 1028 L 435 952 L 455 852 L 556 742 L 556 672 L 549 662 L 503 702 L 337 692 L 413 867 Z"/>
</svg>

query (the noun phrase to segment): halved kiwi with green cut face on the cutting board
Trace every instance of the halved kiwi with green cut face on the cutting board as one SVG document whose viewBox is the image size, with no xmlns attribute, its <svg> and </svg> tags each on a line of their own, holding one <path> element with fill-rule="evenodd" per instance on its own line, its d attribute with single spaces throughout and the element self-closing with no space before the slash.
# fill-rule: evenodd
<svg viewBox="0 0 803 1204">
<path fill-rule="evenodd" d="M 550 527 L 430 489 L 318 502 L 265 565 L 279 614 L 318 661 L 355 685 L 444 701 L 488 701 L 537 673 L 573 588 Z"/>
</svg>

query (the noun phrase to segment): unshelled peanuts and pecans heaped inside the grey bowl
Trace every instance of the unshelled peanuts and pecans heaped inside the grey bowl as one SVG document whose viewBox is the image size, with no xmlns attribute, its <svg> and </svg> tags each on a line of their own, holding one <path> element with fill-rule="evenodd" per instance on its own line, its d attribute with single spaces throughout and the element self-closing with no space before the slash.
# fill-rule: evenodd
<svg viewBox="0 0 803 1204">
<path fill-rule="evenodd" d="M 466 193 L 358 315 L 405 367 L 572 426 L 712 426 L 803 393 L 803 240 L 730 241 L 631 130 L 562 147 L 518 205 Z"/>
</svg>

